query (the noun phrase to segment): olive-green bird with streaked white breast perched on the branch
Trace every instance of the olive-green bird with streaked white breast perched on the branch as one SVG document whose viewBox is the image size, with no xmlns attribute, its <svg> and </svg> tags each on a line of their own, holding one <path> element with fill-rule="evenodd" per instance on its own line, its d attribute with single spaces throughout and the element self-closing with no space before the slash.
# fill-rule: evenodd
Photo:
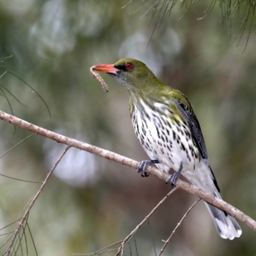
<svg viewBox="0 0 256 256">
<path fill-rule="evenodd" d="M 150 157 L 138 164 L 140 175 L 147 177 L 147 166 L 156 164 L 166 173 L 175 171 L 166 180 L 173 187 L 181 174 L 197 188 L 221 199 L 200 124 L 187 97 L 159 81 L 139 60 L 124 58 L 92 69 L 109 74 L 129 92 L 132 125 Z M 221 237 L 232 240 L 241 236 L 241 227 L 230 214 L 204 203 Z"/>
</svg>

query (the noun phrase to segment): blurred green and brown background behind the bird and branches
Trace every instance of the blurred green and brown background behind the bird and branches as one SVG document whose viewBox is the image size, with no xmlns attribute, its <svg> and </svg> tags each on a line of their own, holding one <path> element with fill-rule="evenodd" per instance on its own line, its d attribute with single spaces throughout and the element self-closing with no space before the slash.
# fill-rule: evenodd
<svg viewBox="0 0 256 256">
<path fill-rule="evenodd" d="M 193 3 L 188 12 L 178 2 L 163 15 L 168 2 L 0 1 L 1 110 L 137 161 L 148 159 L 132 129 L 125 88 L 102 75 L 109 87 L 105 93 L 90 74 L 93 65 L 141 60 L 187 95 L 223 199 L 256 219 L 255 34 L 247 42 L 247 26 L 236 38 L 241 15 L 223 24 L 225 8 L 219 4 L 206 15 L 209 0 Z M 31 134 L 3 121 L 0 125 L 0 155 Z M 0 173 L 42 181 L 64 148 L 32 136 L 0 159 Z M 19 219 L 40 184 L 3 176 L 0 184 L 4 234 L 15 230 L 17 224 L 4 227 Z M 31 235 L 40 256 L 92 253 L 120 241 L 170 189 L 156 177 L 142 179 L 136 170 L 71 148 L 29 214 L 28 255 L 36 255 Z M 132 254 L 137 248 L 138 255 L 155 255 L 154 246 L 159 252 L 195 200 L 184 191 L 168 198 L 150 226 L 131 240 Z M 239 239 L 221 239 L 200 202 L 163 255 L 255 255 L 255 233 L 243 223 L 241 228 Z M 0 236 L 0 246 L 10 236 Z M 131 255 L 129 247 L 125 253 Z"/>
</svg>

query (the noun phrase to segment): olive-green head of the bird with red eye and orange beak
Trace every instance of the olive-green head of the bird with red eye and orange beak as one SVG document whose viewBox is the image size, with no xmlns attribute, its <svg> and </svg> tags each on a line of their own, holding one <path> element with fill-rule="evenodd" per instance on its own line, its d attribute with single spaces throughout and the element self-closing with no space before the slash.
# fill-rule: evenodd
<svg viewBox="0 0 256 256">
<path fill-rule="evenodd" d="M 92 67 L 93 70 L 104 72 L 122 84 L 132 94 L 141 94 L 154 90 L 161 82 L 152 71 L 141 61 L 122 59 L 115 64 L 102 64 Z"/>
</svg>

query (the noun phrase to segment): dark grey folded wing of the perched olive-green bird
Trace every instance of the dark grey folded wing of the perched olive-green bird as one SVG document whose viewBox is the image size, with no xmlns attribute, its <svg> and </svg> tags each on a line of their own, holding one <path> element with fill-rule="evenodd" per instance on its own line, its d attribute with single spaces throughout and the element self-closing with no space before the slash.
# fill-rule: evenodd
<svg viewBox="0 0 256 256">
<path fill-rule="evenodd" d="M 185 97 L 185 96 L 184 96 Z M 186 99 L 186 97 L 185 97 Z M 196 118 L 196 115 L 193 111 L 193 108 L 189 104 L 188 99 L 184 102 L 180 102 L 178 100 L 174 100 L 175 105 L 179 109 L 179 111 L 182 113 L 184 118 L 186 119 L 186 122 L 189 125 L 189 128 L 191 130 L 193 139 L 195 140 L 195 143 L 204 159 L 208 159 L 207 149 L 204 142 L 204 137 L 201 131 L 200 124 Z"/>
</svg>

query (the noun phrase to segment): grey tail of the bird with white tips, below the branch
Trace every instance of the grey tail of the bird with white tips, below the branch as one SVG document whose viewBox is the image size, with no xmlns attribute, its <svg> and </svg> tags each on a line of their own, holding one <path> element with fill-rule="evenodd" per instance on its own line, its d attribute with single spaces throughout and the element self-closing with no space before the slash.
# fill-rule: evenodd
<svg viewBox="0 0 256 256">
<path fill-rule="evenodd" d="M 216 197 L 221 199 L 218 191 L 215 191 L 214 194 Z M 207 202 L 204 203 L 207 206 L 207 209 L 209 210 L 214 221 L 215 227 L 221 237 L 232 240 L 235 237 L 241 236 L 241 227 L 230 214 L 218 209 L 214 205 L 208 204 Z"/>
</svg>

